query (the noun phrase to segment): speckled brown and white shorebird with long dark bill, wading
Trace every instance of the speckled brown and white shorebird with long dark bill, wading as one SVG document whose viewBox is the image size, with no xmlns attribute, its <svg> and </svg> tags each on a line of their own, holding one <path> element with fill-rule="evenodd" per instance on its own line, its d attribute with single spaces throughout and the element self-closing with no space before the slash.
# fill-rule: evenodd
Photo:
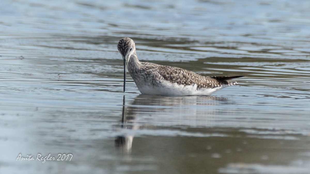
<svg viewBox="0 0 310 174">
<path fill-rule="evenodd" d="M 210 95 L 215 91 L 237 84 L 235 78 L 243 76 L 201 76 L 194 72 L 155 63 L 140 62 L 135 42 L 122 38 L 117 45 L 124 61 L 124 92 L 126 87 L 126 69 L 141 94 L 186 96 Z"/>
</svg>

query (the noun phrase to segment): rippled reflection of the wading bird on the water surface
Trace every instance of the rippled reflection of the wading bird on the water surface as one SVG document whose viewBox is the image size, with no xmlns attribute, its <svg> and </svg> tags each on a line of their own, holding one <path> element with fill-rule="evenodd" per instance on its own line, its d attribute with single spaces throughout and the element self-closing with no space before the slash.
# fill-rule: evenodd
<svg viewBox="0 0 310 174">
<path fill-rule="evenodd" d="M 210 126 L 217 121 L 214 115 L 222 112 L 214 107 L 219 104 L 231 105 L 233 100 L 215 96 L 168 97 L 140 94 L 130 107 L 126 107 L 123 96 L 121 131 L 115 139 L 115 146 L 130 151 L 134 137 L 134 132 L 131 130 L 167 128 L 176 125 Z M 229 112 L 234 114 L 233 111 Z"/>
</svg>

